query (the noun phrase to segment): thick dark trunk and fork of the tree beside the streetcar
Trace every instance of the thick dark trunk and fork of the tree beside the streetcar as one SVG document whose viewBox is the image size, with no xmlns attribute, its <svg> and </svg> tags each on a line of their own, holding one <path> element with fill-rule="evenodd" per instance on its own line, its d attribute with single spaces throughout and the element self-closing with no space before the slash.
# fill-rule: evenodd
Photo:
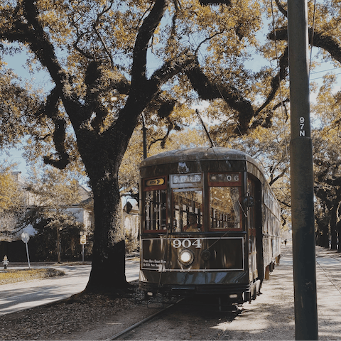
<svg viewBox="0 0 341 341">
<path fill-rule="evenodd" d="M 144 96 L 148 101 L 148 96 Z M 146 103 L 127 101 L 115 129 L 98 139 L 78 131 L 77 142 L 94 195 L 92 270 L 85 291 L 121 293 L 129 288 L 125 276 L 124 224 L 119 193 L 119 166 Z M 106 134 L 107 133 L 107 134 Z"/>
</svg>

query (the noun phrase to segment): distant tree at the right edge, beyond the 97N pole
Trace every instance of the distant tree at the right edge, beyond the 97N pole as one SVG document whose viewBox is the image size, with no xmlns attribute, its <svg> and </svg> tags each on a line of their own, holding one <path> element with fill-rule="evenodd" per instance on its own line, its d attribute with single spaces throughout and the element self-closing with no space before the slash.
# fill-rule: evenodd
<svg viewBox="0 0 341 341">
<path fill-rule="evenodd" d="M 341 251 L 341 92 L 333 92 L 335 76 L 328 75 L 313 105 L 315 195 L 318 197 L 317 237 L 325 247 Z"/>
</svg>

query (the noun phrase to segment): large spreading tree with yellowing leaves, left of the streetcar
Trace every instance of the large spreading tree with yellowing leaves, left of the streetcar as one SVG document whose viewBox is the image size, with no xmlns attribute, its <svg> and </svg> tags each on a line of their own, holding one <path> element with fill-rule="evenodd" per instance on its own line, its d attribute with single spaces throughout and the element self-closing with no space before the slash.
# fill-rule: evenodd
<svg viewBox="0 0 341 341">
<path fill-rule="evenodd" d="M 271 124 L 288 74 L 286 11 L 277 5 L 279 67 L 251 72 L 244 63 L 250 46 L 261 51 L 256 33 L 267 10 L 259 1 L 1 2 L 1 55 L 26 53 L 28 68 L 45 71 L 50 83 L 38 91 L 0 60 L 0 146 L 29 135 L 27 156 L 43 155 L 60 169 L 84 165 L 95 217 L 87 291 L 127 286 L 118 172 L 142 113 L 171 131 L 188 123 L 189 104 L 206 99 L 219 105 L 213 119 L 226 118 L 224 134 Z M 313 39 L 325 50 L 327 27 L 318 26 Z M 338 38 L 330 39 L 334 58 Z M 273 51 L 271 45 L 262 53 L 271 59 Z"/>
</svg>

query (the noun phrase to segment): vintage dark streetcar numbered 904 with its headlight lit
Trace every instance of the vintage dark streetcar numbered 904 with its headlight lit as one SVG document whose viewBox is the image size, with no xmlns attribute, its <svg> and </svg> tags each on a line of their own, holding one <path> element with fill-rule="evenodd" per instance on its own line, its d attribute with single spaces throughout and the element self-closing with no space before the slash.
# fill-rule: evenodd
<svg viewBox="0 0 341 341">
<path fill-rule="evenodd" d="M 222 147 L 140 164 L 140 273 L 146 295 L 256 298 L 281 256 L 280 207 L 259 163 Z"/>
</svg>

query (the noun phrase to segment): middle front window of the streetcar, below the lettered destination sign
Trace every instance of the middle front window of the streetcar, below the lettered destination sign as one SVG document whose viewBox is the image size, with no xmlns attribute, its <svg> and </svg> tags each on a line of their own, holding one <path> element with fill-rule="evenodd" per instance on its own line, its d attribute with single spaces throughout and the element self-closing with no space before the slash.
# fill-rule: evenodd
<svg viewBox="0 0 341 341">
<path fill-rule="evenodd" d="M 202 190 L 173 190 L 173 228 L 175 232 L 202 231 Z"/>
</svg>

